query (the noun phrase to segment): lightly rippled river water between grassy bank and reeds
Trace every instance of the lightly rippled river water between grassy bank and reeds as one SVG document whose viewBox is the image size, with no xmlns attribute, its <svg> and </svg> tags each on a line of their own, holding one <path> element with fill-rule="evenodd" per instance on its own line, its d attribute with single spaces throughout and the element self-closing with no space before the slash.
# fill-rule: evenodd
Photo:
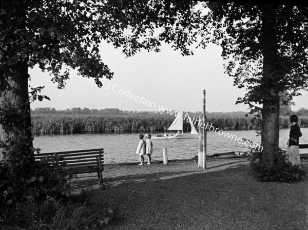
<svg viewBox="0 0 308 230">
<path fill-rule="evenodd" d="M 256 137 L 253 130 L 226 131 L 237 138 L 252 140 L 255 144 L 261 142 L 260 137 Z M 286 147 L 290 129 L 280 130 L 280 147 Z M 301 144 L 308 144 L 308 128 L 301 128 L 303 136 L 300 138 Z M 152 133 L 152 137 L 163 133 Z M 162 160 L 162 149 L 167 147 L 168 159 L 189 159 L 198 155 L 198 137 L 184 133 L 187 139 L 151 139 L 153 143 L 152 160 Z M 218 135 L 218 133 L 207 132 L 207 154 L 246 151 L 248 147 L 237 141 Z M 33 141 L 34 147 L 42 149 L 42 153 L 55 151 L 69 151 L 92 148 L 104 148 L 105 163 L 134 162 L 139 161 L 139 156 L 135 154 L 139 139 L 137 133 L 126 134 L 92 134 L 92 135 L 56 135 L 39 136 Z M 308 149 L 300 149 L 300 153 L 308 152 Z"/>
</svg>

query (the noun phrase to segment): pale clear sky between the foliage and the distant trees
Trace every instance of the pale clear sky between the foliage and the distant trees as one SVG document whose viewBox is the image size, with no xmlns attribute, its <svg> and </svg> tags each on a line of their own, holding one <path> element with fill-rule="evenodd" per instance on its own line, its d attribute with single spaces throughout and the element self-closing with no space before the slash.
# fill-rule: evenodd
<svg viewBox="0 0 308 230">
<path fill-rule="evenodd" d="M 168 108 L 194 112 L 202 111 L 203 90 L 206 90 L 206 111 L 248 111 L 248 106 L 235 104 L 246 90 L 233 86 L 233 78 L 224 73 L 221 48 L 216 45 L 194 50 L 194 55 L 182 56 L 180 51 L 163 44 L 161 52 L 141 51 L 125 57 L 120 48 L 102 42 L 100 54 L 102 61 L 114 72 L 111 81 L 102 81 L 102 88 L 71 71 L 65 88 L 57 89 L 48 72 L 42 72 L 37 66 L 29 69 L 31 87 L 45 86 L 41 94 L 50 98 L 50 101 L 32 102 L 31 108 L 132 111 Z M 49 61 L 52 58 L 56 60 L 56 57 L 46 57 Z M 301 92 L 302 96 L 294 98 L 296 105 L 292 110 L 308 108 L 308 92 Z"/>
</svg>

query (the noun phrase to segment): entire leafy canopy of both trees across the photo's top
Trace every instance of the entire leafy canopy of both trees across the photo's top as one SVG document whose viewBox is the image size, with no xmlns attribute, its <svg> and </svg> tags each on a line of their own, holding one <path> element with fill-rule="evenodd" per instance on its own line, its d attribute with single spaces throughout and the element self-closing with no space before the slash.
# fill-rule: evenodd
<svg viewBox="0 0 308 230">
<path fill-rule="evenodd" d="M 158 52 L 161 42 L 171 43 L 183 55 L 192 54 L 192 45 L 220 45 L 226 73 L 233 76 L 235 86 L 247 89 L 238 103 L 253 111 L 271 98 L 268 86 L 288 92 L 291 100 L 308 87 L 306 6 L 163 0 L 3 2 L 2 67 L 25 60 L 31 68 L 38 64 L 53 74 L 59 88 L 69 78 L 68 70 L 61 71 L 64 64 L 94 78 L 99 87 L 101 78 L 112 78 L 99 54 L 102 40 L 122 47 L 127 56 L 141 49 Z M 262 78 L 263 7 L 273 8 L 277 25 L 271 79 Z M 60 64 L 44 64 L 52 58 Z"/>
</svg>

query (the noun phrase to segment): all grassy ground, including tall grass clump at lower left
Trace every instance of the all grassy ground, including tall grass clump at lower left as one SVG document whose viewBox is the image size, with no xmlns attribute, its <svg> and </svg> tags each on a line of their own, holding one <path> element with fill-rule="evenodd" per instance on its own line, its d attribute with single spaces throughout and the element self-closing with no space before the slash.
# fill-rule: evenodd
<svg viewBox="0 0 308 230">
<path fill-rule="evenodd" d="M 80 175 L 64 202 L 27 200 L 0 230 L 308 229 L 308 178 L 258 182 L 245 158 L 211 159 L 206 170 L 192 160 L 137 164 L 106 165 L 104 188 Z"/>
</svg>

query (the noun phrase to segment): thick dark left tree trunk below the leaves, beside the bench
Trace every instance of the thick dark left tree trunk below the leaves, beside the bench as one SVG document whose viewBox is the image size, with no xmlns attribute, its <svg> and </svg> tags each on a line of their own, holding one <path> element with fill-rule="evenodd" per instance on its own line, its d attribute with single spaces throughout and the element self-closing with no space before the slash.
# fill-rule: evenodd
<svg viewBox="0 0 308 230">
<path fill-rule="evenodd" d="M 0 76 L 0 110 L 6 121 L 0 127 L 0 138 L 2 141 L 11 140 L 10 150 L 3 158 L 5 161 L 20 159 L 18 163 L 21 165 L 34 161 L 28 77 L 26 61 L 4 68 Z"/>
</svg>

